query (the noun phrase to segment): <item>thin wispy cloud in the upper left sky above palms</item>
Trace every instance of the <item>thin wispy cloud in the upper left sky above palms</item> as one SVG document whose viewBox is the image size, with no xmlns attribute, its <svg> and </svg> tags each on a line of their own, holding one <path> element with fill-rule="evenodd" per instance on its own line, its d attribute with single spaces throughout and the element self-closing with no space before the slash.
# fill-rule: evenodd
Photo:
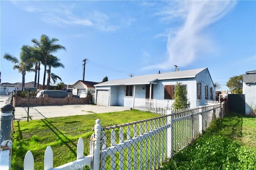
<svg viewBox="0 0 256 170">
<path fill-rule="evenodd" d="M 34 1 L 13 2 L 14 5 L 26 12 L 39 13 L 40 19 L 52 26 L 86 26 L 102 32 L 114 32 L 119 28 L 119 26 L 110 24 L 107 14 L 98 11 L 75 14 L 76 4 L 67 3 L 52 5 L 51 3 L 38 4 Z"/>
</svg>

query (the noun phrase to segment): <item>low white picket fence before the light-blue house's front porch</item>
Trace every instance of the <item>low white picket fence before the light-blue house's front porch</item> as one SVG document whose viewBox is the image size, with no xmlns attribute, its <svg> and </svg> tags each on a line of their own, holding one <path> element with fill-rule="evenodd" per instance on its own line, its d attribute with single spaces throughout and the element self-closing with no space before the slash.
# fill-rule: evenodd
<svg viewBox="0 0 256 170">
<path fill-rule="evenodd" d="M 150 111 L 158 115 L 166 115 L 168 110 L 172 110 L 174 100 L 159 100 L 159 99 L 146 99 L 134 98 L 133 109 L 139 111 Z"/>
</svg>

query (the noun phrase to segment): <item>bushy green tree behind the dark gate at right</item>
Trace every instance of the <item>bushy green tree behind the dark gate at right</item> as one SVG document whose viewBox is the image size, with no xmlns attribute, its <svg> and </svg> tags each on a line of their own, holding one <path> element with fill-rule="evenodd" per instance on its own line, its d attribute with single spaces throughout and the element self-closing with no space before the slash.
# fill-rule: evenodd
<svg viewBox="0 0 256 170">
<path fill-rule="evenodd" d="M 230 77 L 227 84 L 228 88 L 232 93 L 242 94 L 243 93 L 243 83 L 242 83 L 242 75 Z"/>
</svg>

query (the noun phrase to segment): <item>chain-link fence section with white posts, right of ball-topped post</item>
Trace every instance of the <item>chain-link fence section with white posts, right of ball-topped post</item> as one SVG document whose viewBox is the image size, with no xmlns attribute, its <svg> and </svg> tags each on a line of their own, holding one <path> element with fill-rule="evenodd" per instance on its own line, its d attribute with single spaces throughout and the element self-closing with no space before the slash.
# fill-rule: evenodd
<svg viewBox="0 0 256 170">
<path fill-rule="evenodd" d="M 102 128 L 101 169 L 158 169 L 221 114 L 221 105 Z"/>
</svg>

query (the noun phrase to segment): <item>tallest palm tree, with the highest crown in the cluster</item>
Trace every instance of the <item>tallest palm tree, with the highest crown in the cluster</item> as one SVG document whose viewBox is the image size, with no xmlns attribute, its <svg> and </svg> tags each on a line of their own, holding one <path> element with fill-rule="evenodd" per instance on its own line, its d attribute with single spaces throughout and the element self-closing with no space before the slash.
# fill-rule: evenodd
<svg viewBox="0 0 256 170">
<path fill-rule="evenodd" d="M 60 44 L 56 44 L 59 40 L 57 38 L 50 39 L 48 36 L 42 34 L 40 37 L 40 41 L 36 39 L 31 40 L 36 47 L 40 49 L 40 53 L 42 57 L 44 57 L 44 79 L 43 79 L 43 89 L 45 85 L 45 78 L 46 78 L 46 70 L 47 70 L 47 61 L 49 55 L 52 53 L 56 53 L 60 49 L 64 49 L 66 51 L 66 48 Z"/>
</svg>

